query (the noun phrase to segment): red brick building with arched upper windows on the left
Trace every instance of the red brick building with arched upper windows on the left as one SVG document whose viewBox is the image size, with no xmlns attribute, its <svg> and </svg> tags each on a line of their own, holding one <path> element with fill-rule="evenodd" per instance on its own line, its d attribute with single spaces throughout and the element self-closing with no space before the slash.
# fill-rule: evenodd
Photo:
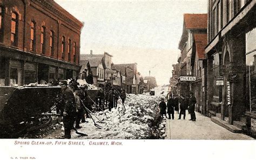
<svg viewBox="0 0 256 160">
<path fill-rule="evenodd" d="M 52 0 L 0 0 L 0 85 L 79 74 L 83 23 Z"/>
</svg>

